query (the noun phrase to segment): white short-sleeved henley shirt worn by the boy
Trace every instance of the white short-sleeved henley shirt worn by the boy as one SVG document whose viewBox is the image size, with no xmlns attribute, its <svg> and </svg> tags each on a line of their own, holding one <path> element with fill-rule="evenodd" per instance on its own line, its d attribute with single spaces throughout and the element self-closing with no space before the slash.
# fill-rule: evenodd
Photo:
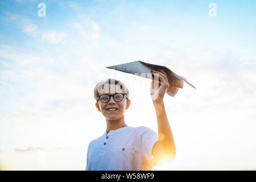
<svg viewBox="0 0 256 182">
<path fill-rule="evenodd" d="M 157 141 L 158 134 L 145 126 L 106 130 L 89 143 L 85 170 L 152 170 L 151 152 Z"/>
</svg>

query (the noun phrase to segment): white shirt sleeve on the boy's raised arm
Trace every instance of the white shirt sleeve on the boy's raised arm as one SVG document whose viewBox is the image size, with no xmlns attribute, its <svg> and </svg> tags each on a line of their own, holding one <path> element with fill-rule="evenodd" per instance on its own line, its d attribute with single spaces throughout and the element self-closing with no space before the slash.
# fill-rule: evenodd
<svg viewBox="0 0 256 182">
<path fill-rule="evenodd" d="M 158 141 L 158 134 L 149 127 L 141 126 L 141 152 L 144 158 L 151 163 L 151 153 L 154 144 Z"/>
</svg>

